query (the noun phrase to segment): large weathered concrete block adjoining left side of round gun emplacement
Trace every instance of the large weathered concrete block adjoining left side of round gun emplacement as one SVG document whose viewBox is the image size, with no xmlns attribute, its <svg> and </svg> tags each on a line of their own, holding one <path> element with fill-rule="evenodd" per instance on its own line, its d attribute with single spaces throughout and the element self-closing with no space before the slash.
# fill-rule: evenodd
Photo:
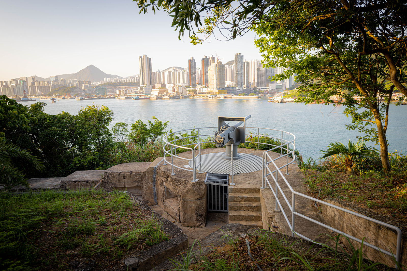
<svg viewBox="0 0 407 271">
<path fill-rule="evenodd" d="M 150 163 L 124 163 L 105 170 L 103 187 L 107 190 L 126 190 L 142 195 L 143 182 Z"/>
</svg>

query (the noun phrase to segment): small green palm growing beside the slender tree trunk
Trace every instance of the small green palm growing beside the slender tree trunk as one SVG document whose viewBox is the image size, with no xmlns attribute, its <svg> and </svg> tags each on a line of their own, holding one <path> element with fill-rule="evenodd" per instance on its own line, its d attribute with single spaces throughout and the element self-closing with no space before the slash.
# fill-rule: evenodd
<svg viewBox="0 0 407 271">
<path fill-rule="evenodd" d="M 364 141 L 358 141 L 354 143 L 349 140 L 348 146 L 340 142 L 329 143 L 327 150 L 322 150 L 319 152 L 324 153 L 320 158 L 326 158 L 331 155 L 340 155 L 343 158 L 344 168 L 347 175 L 352 175 L 352 167 L 355 162 L 361 162 L 366 158 L 375 158 L 378 153 L 374 147 L 366 147 Z"/>
</svg>

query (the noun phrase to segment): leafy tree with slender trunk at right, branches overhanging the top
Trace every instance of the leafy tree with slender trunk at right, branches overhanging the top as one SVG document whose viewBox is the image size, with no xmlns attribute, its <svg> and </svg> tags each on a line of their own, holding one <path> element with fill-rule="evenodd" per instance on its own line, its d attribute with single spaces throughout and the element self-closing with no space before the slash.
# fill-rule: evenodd
<svg viewBox="0 0 407 271">
<path fill-rule="evenodd" d="M 380 144 L 382 168 L 389 170 L 386 131 L 393 90 L 407 95 L 407 5 L 398 0 L 136 0 L 173 16 L 179 37 L 192 43 L 219 34 L 235 39 L 249 29 L 265 67 L 286 67 L 283 80 L 303 82 L 298 102 L 343 104 L 352 117 L 347 128 Z M 201 15 L 204 17 L 204 26 Z M 197 34 L 195 33 L 195 30 Z M 192 33 L 192 34 L 191 34 Z M 216 34 L 216 35 L 215 35 Z M 341 97 L 334 102 L 333 97 Z M 354 97 L 360 97 L 355 99 Z M 362 110 L 362 111 L 361 111 Z M 375 132 L 374 132 L 374 130 Z"/>
</svg>

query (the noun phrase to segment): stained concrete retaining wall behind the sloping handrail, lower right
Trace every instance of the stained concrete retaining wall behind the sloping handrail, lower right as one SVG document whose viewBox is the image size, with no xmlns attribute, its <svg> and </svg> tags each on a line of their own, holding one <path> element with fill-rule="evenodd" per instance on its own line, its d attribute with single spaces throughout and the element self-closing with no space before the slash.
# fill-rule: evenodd
<svg viewBox="0 0 407 271">
<path fill-rule="evenodd" d="M 354 208 L 351 208 L 350 204 L 345 204 L 333 200 L 326 200 L 326 202 L 330 204 L 335 204 L 347 210 L 358 212 Z M 392 251 L 394 254 L 396 254 L 397 234 L 395 231 L 390 230 L 389 228 L 379 225 L 377 223 L 368 221 L 360 217 L 356 217 L 344 211 L 337 210 L 335 208 L 325 205 L 322 206 L 322 215 L 324 216 L 327 225 L 330 225 L 333 228 L 341 230 L 342 232 L 346 232 L 347 234 L 350 234 L 359 239 L 366 237 L 365 238 L 366 242 L 375 245 L 379 248 L 383 248 L 387 251 Z M 363 214 L 363 215 L 366 215 L 368 217 L 373 216 L 372 214 Z M 385 219 L 384 217 L 382 217 L 382 219 L 380 219 L 379 217 L 374 218 L 380 221 L 383 221 Z M 350 247 L 348 241 L 346 241 L 346 238 L 342 238 L 341 241 L 348 248 Z M 356 241 L 351 241 L 351 243 L 354 247 L 360 248 L 361 246 L 361 244 Z M 401 261 L 404 265 L 407 266 L 406 245 L 407 245 L 406 238 L 404 238 L 402 242 Z M 370 260 L 374 260 L 375 262 L 383 262 L 384 264 L 387 264 L 390 267 L 394 267 L 394 261 L 390 256 L 387 256 L 375 249 L 365 246 L 363 246 L 363 252 Z"/>
</svg>

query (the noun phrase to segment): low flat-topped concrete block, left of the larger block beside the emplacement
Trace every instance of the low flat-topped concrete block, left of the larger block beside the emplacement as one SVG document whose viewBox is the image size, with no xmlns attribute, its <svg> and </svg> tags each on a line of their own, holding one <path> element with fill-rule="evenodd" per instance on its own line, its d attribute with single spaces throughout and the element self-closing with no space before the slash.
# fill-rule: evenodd
<svg viewBox="0 0 407 271">
<path fill-rule="evenodd" d="M 63 178 L 59 187 L 64 190 L 92 189 L 103 178 L 104 170 L 78 170 Z"/>
</svg>

